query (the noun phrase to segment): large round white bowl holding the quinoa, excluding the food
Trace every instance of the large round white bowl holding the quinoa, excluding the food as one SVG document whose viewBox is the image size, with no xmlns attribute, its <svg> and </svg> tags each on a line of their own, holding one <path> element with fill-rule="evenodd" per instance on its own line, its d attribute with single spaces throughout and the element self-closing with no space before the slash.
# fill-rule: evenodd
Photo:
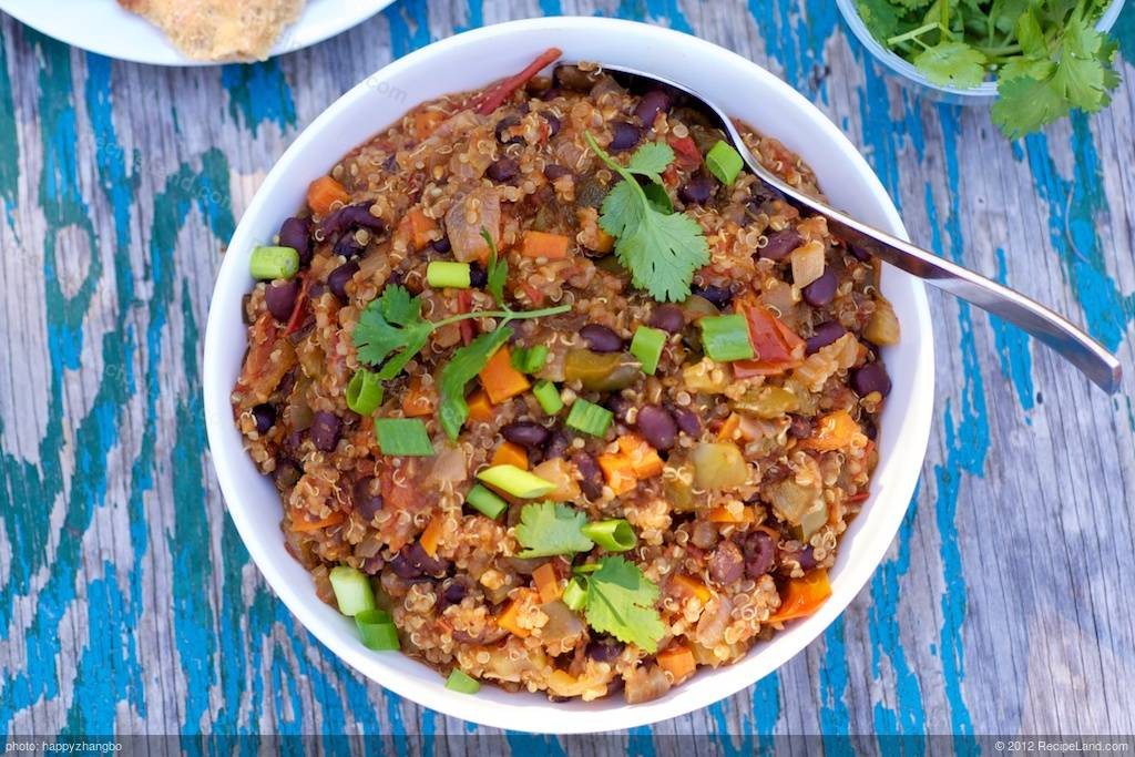
<svg viewBox="0 0 1135 757">
<path fill-rule="evenodd" d="M 544 695 L 508 693 L 493 685 L 476 696 L 449 691 L 442 675 L 421 663 L 363 647 L 352 621 L 316 597 L 306 571 L 285 552 L 279 497 L 257 472 L 233 424 L 229 393 L 245 351 L 241 296 L 252 286 L 250 252 L 301 207 L 310 180 L 410 107 L 481 87 L 520 70 L 549 45 L 563 49 L 565 60 L 654 72 L 716 99 L 733 116 L 800 153 L 835 205 L 906 236 L 894 205 L 855 146 L 812 103 L 745 58 L 686 34 L 606 18 L 539 18 L 489 26 L 435 42 L 386 66 L 317 118 L 268 174 L 233 236 L 213 292 L 204 401 L 217 477 L 244 544 L 272 589 L 331 651 L 390 691 L 446 715 L 502 729 L 582 733 L 654 723 L 740 691 L 791 659 L 847 607 L 883 558 L 918 479 L 934 397 L 933 346 L 923 285 L 884 269 L 883 291 L 903 334 L 901 344 L 884 352 L 894 388 L 880 428 L 872 496 L 843 537 L 831 572 L 831 599 L 735 665 L 704 670 L 665 697 L 640 705 L 627 705 L 617 696 L 553 704 Z"/>
</svg>

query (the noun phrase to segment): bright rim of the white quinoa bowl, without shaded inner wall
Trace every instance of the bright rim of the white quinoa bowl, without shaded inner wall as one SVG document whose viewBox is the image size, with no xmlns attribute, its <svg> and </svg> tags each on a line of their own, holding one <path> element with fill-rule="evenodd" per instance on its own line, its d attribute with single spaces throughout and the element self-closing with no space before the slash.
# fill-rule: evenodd
<svg viewBox="0 0 1135 757">
<path fill-rule="evenodd" d="M 545 17 L 506 22 L 503 24 L 480 27 L 434 42 L 430 45 L 423 47 L 388 64 L 375 74 L 365 77 L 362 82 L 343 94 L 322 113 L 320 113 L 320 116 L 318 116 L 295 138 L 292 145 L 284 152 L 272 169 L 264 177 L 263 183 L 258 188 L 233 235 L 233 241 L 229 247 L 230 253 L 225 256 L 225 260 L 221 263 L 212 298 L 210 301 L 204 342 L 204 354 L 207 358 L 202 361 L 205 367 L 205 375 L 203 379 L 205 424 L 210 449 L 212 451 L 210 457 L 217 472 L 221 494 L 225 497 L 227 510 L 233 516 L 237 531 L 245 544 L 245 548 L 252 556 L 253 562 L 257 564 L 257 567 L 260 570 L 268 584 L 284 602 L 292 614 L 300 620 L 304 629 L 319 639 L 319 641 L 328 647 L 348 666 L 364 674 L 367 678 L 375 680 L 394 693 L 405 697 L 406 699 L 410 699 L 411 701 L 414 701 L 423 707 L 429 707 L 446 715 L 487 726 L 501 727 L 511 731 L 543 733 L 591 733 L 621 731 L 629 727 L 656 723 L 701 709 L 703 707 L 709 706 L 753 685 L 756 681 L 775 671 L 789 659 L 796 657 L 806 646 L 812 644 L 863 590 L 871 575 L 878 567 L 886 550 L 893 544 L 894 536 L 898 532 L 902 519 L 906 516 L 907 510 L 909 508 L 910 497 L 916 489 L 918 477 L 920 474 L 920 463 L 924 460 L 926 446 L 930 439 L 933 407 L 933 333 L 931 328 L 930 309 L 925 288 L 920 283 L 910 281 L 909 298 L 913 310 L 917 313 L 917 321 L 903 323 L 905 329 L 907 329 L 905 339 L 914 339 L 915 346 L 913 348 L 914 359 L 911 360 L 909 376 L 911 395 L 908 412 L 901 419 L 901 437 L 903 441 L 902 449 L 905 451 L 906 456 L 916 461 L 916 463 L 907 468 L 892 470 L 888 479 L 890 488 L 888 489 L 884 487 L 884 493 L 882 495 L 878 494 L 878 489 L 873 487 L 872 499 L 869 502 L 875 503 L 873 505 L 874 507 L 881 507 L 882 502 L 888 504 L 888 507 L 882 508 L 885 514 L 885 520 L 876 523 L 878 528 L 873 533 L 865 532 L 861 535 L 864 541 L 869 539 L 869 542 L 859 545 L 860 548 L 857 552 L 857 562 L 849 562 L 841 569 L 839 583 L 847 584 L 852 590 L 836 591 L 817 613 L 808 619 L 797 621 L 796 629 L 789 628 L 782 631 L 781 634 L 784 636 L 784 639 L 781 641 L 776 655 L 768 654 L 762 659 L 759 651 L 755 651 L 753 655 L 739 661 L 734 665 L 723 666 L 711 672 L 701 673 L 701 675 L 715 676 L 715 679 L 718 679 L 718 682 L 721 683 L 720 685 L 713 688 L 708 693 L 706 691 L 701 691 L 697 696 L 693 696 L 687 691 L 687 687 L 676 687 L 671 690 L 670 695 L 666 697 L 640 705 L 628 706 L 620 704 L 620 706 L 586 710 L 570 709 L 565 707 L 562 710 L 562 716 L 560 716 L 561 713 L 557 710 L 557 716 L 552 722 L 547 722 L 540 721 L 539 718 L 524 718 L 524 700 L 519 698 L 532 695 L 507 695 L 510 699 L 505 700 L 505 706 L 501 706 L 499 703 L 496 703 L 494 706 L 485 706 L 484 704 L 477 703 L 478 697 L 469 697 L 468 695 L 460 695 L 444 689 L 443 678 L 434 671 L 430 671 L 430 680 L 426 681 L 420 675 L 406 674 L 395 670 L 390 663 L 387 663 L 381 658 L 381 655 L 376 655 L 375 653 L 367 650 L 361 646 L 361 644 L 358 642 L 358 640 L 348 642 L 343 637 L 340 630 L 342 623 L 337 629 L 333 626 L 333 623 L 329 620 L 326 620 L 325 615 L 320 615 L 317 611 L 311 611 L 305 607 L 309 599 L 305 596 L 302 596 L 301 591 L 296 587 L 288 583 L 285 579 L 281 573 L 281 569 L 277 565 L 279 555 L 271 554 L 254 531 L 255 525 L 252 522 L 250 511 L 246 510 L 246 507 L 252 506 L 251 503 L 247 502 L 250 497 L 244 497 L 244 499 L 242 499 L 242 490 L 236 482 L 236 466 L 247 465 L 250 462 L 239 440 L 235 443 L 235 449 L 233 448 L 232 438 L 234 436 L 238 437 L 239 435 L 233 426 L 232 407 L 229 405 L 232 377 L 218 377 L 218 369 L 213 367 L 215 361 L 208 360 L 209 354 L 218 354 L 217 350 L 222 348 L 222 339 L 230 338 L 230 335 L 226 331 L 232 331 L 232 323 L 226 322 L 229 319 L 229 311 L 224 309 L 222 312 L 221 308 L 213 305 L 221 302 L 225 302 L 226 305 L 233 304 L 232 300 L 226 300 L 225 289 L 232 288 L 229 283 L 234 279 L 234 277 L 238 277 L 243 283 L 239 287 L 241 291 L 247 291 L 247 271 L 236 270 L 235 267 L 238 264 L 236 260 L 237 255 L 233 254 L 232 250 L 242 249 L 238 244 L 245 242 L 244 237 L 250 236 L 251 232 L 249 232 L 249 228 L 254 222 L 252 219 L 257 219 L 266 212 L 274 213 L 276 216 L 279 215 L 278 211 L 268 210 L 266 208 L 268 204 L 268 194 L 270 193 L 269 187 L 275 186 L 281 180 L 286 180 L 292 169 L 292 163 L 300 160 L 300 157 L 309 150 L 314 148 L 320 151 L 327 151 L 325 145 L 313 145 L 313 143 L 316 143 L 322 131 L 334 124 L 344 111 L 347 111 L 350 107 L 355 104 L 360 99 L 370 96 L 370 93 L 375 91 L 382 81 L 389 81 L 406 69 L 414 67 L 420 61 L 429 59 L 439 51 L 456 48 L 459 45 L 476 45 L 488 40 L 493 40 L 494 43 L 499 43 L 499 39 L 503 35 L 513 33 L 521 35 L 529 32 L 553 34 L 556 32 L 603 33 L 609 34 L 614 39 L 619 39 L 619 35 L 621 34 L 640 35 L 644 40 L 649 40 L 650 43 L 657 43 L 659 45 L 683 45 L 688 48 L 691 53 L 697 52 L 699 56 L 717 57 L 723 65 L 728 64 L 733 69 L 746 67 L 749 75 L 763 79 L 771 89 L 775 90 L 781 96 L 783 96 L 787 102 L 793 104 L 796 110 L 800 111 L 801 119 L 807 119 L 809 126 L 823 132 L 825 138 L 830 140 L 833 144 L 833 149 L 839 149 L 843 153 L 846 159 L 850 162 L 852 170 L 856 173 L 857 178 L 861 179 L 869 187 L 873 194 L 873 202 L 877 203 L 878 210 L 883 216 L 885 216 L 885 226 L 889 227 L 890 232 L 906 237 L 906 230 L 902 227 L 902 222 L 893 202 L 884 190 L 878 177 L 871 169 L 861 153 L 851 144 L 851 142 L 826 116 L 823 115 L 822 111 L 804 98 L 804 95 L 765 68 L 738 53 L 721 48 L 708 41 L 673 30 L 613 18 Z M 409 103 L 407 107 L 412 104 L 417 103 Z M 385 125 L 378 126 L 375 129 L 375 133 L 380 132 L 382 128 L 385 128 Z M 354 146 L 355 145 L 344 145 L 342 151 L 336 148 L 331 151 L 334 154 L 329 158 L 329 160 L 337 160 L 339 155 L 346 153 Z M 251 237 L 247 239 L 250 243 L 252 241 L 253 239 Z M 889 268 L 884 268 L 884 276 L 906 277 L 905 274 L 900 274 Z M 218 378 L 220 378 L 220 381 L 218 381 Z M 236 456 L 239 456 L 241 460 L 236 460 Z M 880 466 L 875 471 L 875 476 L 877 477 L 883 469 L 884 461 L 881 460 Z M 865 514 L 860 515 L 860 518 L 865 516 Z M 867 552 L 867 547 L 872 548 L 869 553 Z M 866 557 L 864 555 L 866 555 Z M 287 556 L 287 558 L 292 560 L 291 556 Z M 311 591 L 312 589 L 309 584 L 309 587 L 306 587 L 306 591 L 303 594 L 311 594 Z M 789 636 L 793 630 L 796 630 L 797 633 L 794 636 Z M 771 662 L 774 657 L 780 657 L 779 662 Z M 760 665 L 750 665 L 749 667 L 753 667 L 751 671 L 740 671 L 739 666 L 743 665 L 747 661 L 756 663 L 756 659 L 754 658 L 762 659 Z M 419 663 L 419 665 L 421 664 Z M 424 668 L 423 665 L 422 667 Z M 733 673 L 730 674 L 731 672 Z M 382 675 L 379 676 L 379 673 Z M 675 692 L 681 693 L 683 691 L 686 691 L 686 696 L 673 696 Z M 515 706 L 513 705 L 511 697 L 518 698 Z"/>
</svg>

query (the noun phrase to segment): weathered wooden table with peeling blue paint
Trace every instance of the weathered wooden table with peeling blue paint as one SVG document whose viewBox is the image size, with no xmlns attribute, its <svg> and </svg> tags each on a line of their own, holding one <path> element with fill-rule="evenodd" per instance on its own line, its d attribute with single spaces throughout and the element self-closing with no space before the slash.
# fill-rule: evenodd
<svg viewBox="0 0 1135 757">
<path fill-rule="evenodd" d="M 1130 6 L 1111 107 L 1015 143 L 985 110 L 885 75 L 830 0 L 402 0 L 313 49 L 193 69 L 111 61 L 2 17 L 0 732 L 465 748 L 446 734 L 473 729 L 345 667 L 250 563 L 209 461 L 201 337 L 220 250 L 305 124 L 393 58 L 540 12 L 666 24 L 768 67 L 863 149 L 915 239 L 1086 322 L 1132 364 Z M 1135 732 L 1130 399 L 932 302 L 930 454 L 868 587 L 775 675 L 597 752 L 708 732 L 741 734 L 732 750 L 772 734 Z"/>
</svg>

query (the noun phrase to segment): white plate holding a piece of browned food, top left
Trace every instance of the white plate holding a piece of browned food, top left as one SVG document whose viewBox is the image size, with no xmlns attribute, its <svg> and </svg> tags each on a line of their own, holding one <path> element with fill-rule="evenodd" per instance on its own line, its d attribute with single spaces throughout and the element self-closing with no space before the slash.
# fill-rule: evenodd
<svg viewBox="0 0 1135 757">
<path fill-rule="evenodd" d="M 284 28 L 269 56 L 322 42 L 370 18 L 392 2 L 394 0 L 308 0 L 300 18 Z M 157 26 L 124 10 L 118 0 L 0 0 L 0 10 L 48 36 L 109 58 L 158 66 L 218 65 L 186 58 Z"/>
</svg>

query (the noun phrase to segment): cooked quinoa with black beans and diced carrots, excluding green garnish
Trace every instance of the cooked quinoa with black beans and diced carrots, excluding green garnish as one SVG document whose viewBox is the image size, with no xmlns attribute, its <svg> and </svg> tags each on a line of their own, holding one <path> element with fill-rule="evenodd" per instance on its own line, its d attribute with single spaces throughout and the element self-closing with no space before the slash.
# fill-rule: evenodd
<svg viewBox="0 0 1135 757">
<path fill-rule="evenodd" d="M 662 186 L 708 251 L 688 297 L 659 302 L 632 285 L 613 253 L 621 239 L 600 225 L 621 179 L 586 134 L 623 165 L 645 144 L 670 145 Z M 233 407 L 280 493 L 288 552 L 320 598 L 336 604 L 331 569 L 356 569 L 402 650 L 443 673 L 554 699 L 621 690 L 632 704 L 740 659 L 822 604 L 840 535 L 867 497 L 890 390 L 878 347 L 898 339 L 898 323 L 877 266 L 823 218 L 748 173 L 726 185 L 707 169 L 722 137 L 672 93 L 628 92 L 597 66 L 561 65 L 418 106 L 312 185 L 310 207 L 272 241 L 296 251 L 299 272 L 258 283 L 244 302 L 249 353 Z M 767 168 L 818 195 L 780 142 L 748 128 L 743 137 Z M 426 321 L 499 311 L 494 250 L 507 262 L 504 308 L 568 306 L 508 323 L 501 350 L 515 358 L 543 345 L 543 364 L 527 377 L 512 368 L 511 392 L 484 371 L 469 381 L 470 417 L 452 439 L 438 418 L 442 371 L 503 328 L 502 318 L 459 320 L 382 382 L 377 410 L 351 410 L 352 378 L 381 368 L 360 350 L 376 298 L 402 287 Z M 429 286 L 436 261 L 468 263 L 469 286 Z M 713 360 L 699 321 L 734 313 L 753 356 Z M 630 351 L 642 327 L 661 335 L 653 373 L 638 345 Z M 556 396 L 563 407 L 547 412 Z M 605 429 L 569 422 L 587 403 L 605 409 Z M 398 418 L 420 420 L 431 454 L 382 454 L 376 424 Z M 488 487 L 506 505 L 490 518 L 466 496 L 502 461 L 550 491 Z M 569 587 L 602 589 L 587 583 L 600 574 L 579 569 L 611 560 L 612 545 L 519 556 L 531 546 L 521 516 L 543 502 L 580 522 L 629 524 L 634 546 L 617 555 L 656 588 L 640 608 L 655 620 L 633 623 L 637 634 L 612 631 L 591 607 L 565 604 Z"/>
</svg>

